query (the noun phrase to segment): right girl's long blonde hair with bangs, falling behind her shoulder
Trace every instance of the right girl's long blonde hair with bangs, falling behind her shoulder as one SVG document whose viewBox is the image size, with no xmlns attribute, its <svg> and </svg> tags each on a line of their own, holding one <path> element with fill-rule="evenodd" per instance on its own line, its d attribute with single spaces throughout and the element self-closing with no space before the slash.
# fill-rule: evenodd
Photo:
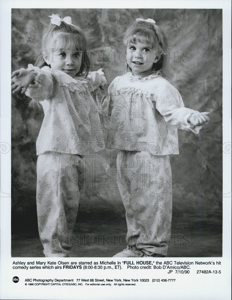
<svg viewBox="0 0 232 300">
<path fill-rule="evenodd" d="M 127 28 L 124 35 L 124 45 L 135 44 L 136 41 L 146 42 L 154 47 L 159 60 L 152 66 L 151 72 L 159 71 L 164 78 L 172 80 L 173 70 L 169 66 L 169 49 L 167 38 L 163 31 L 154 23 L 145 21 L 136 21 Z M 131 68 L 126 67 L 126 72 Z"/>
</svg>

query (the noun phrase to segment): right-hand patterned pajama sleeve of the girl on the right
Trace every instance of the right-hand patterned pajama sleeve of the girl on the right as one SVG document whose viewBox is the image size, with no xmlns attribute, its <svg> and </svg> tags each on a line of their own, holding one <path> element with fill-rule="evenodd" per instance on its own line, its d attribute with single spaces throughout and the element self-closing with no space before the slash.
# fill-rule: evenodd
<svg viewBox="0 0 232 300">
<path fill-rule="evenodd" d="M 198 112 L 184 106 L 179 91 L 171 84 L 165 85 L 160 90 L 155 106 L 167 124 L 196 134 L 201 129 L 201 126 L 191 128 L 190 123 L 187 122 L 188 116 Z"/>
</svg>

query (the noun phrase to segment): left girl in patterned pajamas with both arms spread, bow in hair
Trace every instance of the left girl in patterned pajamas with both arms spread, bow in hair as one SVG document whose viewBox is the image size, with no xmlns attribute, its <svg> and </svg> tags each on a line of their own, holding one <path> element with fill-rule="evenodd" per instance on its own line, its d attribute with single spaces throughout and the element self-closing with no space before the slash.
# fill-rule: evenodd
<svg viewBox="0 0 232 300">
<path fill-rule="evenodd" d="M 104 149 L 91 93 L 105 78 L 101 71 L 87 76 L 90 59 L 82 30 L 70 17 L 50 17 L 37 66 L 14 71 L 11 85 L 13 93 L 26 93 L 43 107 L 36 141 L 38 230 L 46 257 L 69 257 L 87 171 L 82 158 Z"/>
</svg>

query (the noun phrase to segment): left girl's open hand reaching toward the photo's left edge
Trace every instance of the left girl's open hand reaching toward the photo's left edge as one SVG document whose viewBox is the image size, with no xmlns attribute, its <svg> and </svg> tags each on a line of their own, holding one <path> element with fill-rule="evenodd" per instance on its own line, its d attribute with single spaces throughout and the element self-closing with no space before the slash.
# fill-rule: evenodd
<svg viewBox="0 0 232 300">
<path fill-rule="evenodd" d="M 35 79 L 35 74 L 21 68 L 19 70 L 14 71 L 11 74 L 11 90 L 13 91 L 12 93 L 18 93 L 21 91 L 22 94 L 26 92 L 26 89 L 30 83 Z"/>
</svg>

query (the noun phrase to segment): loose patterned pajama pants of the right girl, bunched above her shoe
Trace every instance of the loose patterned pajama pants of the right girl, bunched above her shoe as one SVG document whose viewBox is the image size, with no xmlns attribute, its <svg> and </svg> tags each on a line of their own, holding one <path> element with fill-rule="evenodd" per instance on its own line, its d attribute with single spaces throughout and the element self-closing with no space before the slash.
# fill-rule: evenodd
<svg viewBox="0 0 232 300">
<path fill-rule="evenodd" d="M 117 182 L 126 210 L 127 244 L 146 255 L 167 255 L 171 234 L 172 175 L 168 155 L 121 150 Z"/>
</svg>

